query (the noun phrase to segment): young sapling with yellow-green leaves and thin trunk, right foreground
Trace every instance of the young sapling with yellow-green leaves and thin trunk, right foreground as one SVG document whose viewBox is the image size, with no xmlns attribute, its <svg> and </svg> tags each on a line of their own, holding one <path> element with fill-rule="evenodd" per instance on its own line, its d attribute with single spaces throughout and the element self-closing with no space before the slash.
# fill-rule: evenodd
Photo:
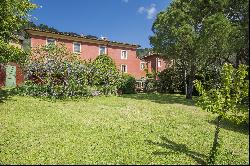
<svg viewBox="0 0 250 166">
<path fill-rule="evenodd" d="M 234 120 L 237 123 L 246 121 L 248 118 L 248 107 L 242 106 L 242 101 L 248 96 L 249 81 L 247 67 L 243 64 L 234 69 L 231 64 L 225 64 L 221 73 L 220 83 L 212 88 L 205 89 L 200 81 L 195 81 L 195 87 L 200 93 L 197 105 L 203 110 L 218 115 L 214 134 L 214 142 L 208 164 L 214 164 L 220 146 L 220 125 L 222 118 Z"/>
</svg>

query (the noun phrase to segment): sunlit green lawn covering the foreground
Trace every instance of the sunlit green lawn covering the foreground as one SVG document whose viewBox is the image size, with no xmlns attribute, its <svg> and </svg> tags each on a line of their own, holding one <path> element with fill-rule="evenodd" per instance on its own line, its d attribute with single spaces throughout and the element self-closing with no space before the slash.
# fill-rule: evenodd
<svg viewBox="0 0 250 166">
<path fill-rule="evenodd" d="M 204 164 L 215 115 L 181 95 L 0 103 L 0 164 Z M 249 132 L 225 122 L 217 164 L 249 164 Z"/>
</svg>

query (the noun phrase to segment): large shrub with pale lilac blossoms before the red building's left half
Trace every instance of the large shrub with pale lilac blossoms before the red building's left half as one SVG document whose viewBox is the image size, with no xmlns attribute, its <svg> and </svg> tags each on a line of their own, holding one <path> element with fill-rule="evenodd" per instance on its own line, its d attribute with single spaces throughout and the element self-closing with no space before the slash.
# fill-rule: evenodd
<svg viewBox="0 0 250 166">
<path fill-rule="evenodd" d="M 33 50 L 26 67 L 28 81 L 20 92 L 54 98 L 86 96 L 87 65 L 65 46 L 42 46 Z"/>
</svg>

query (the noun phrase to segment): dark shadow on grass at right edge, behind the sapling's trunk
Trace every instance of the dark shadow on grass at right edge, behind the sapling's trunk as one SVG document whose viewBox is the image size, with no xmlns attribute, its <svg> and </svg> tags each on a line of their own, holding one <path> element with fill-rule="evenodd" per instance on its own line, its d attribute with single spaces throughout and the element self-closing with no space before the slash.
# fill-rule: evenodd
<svg viewBox="0 0 250 166">
<path fill-rule="evenodd" d="M 216 125 L 216 119 L 209 121 L 208 123 Z M 223 119 L 221 122 L 221 128 L 234 132 L 239 132 L 245 135 L 249 135 L 249 125 L 247 123 L 236 124 L 228 119 Z"/>
</svg>

